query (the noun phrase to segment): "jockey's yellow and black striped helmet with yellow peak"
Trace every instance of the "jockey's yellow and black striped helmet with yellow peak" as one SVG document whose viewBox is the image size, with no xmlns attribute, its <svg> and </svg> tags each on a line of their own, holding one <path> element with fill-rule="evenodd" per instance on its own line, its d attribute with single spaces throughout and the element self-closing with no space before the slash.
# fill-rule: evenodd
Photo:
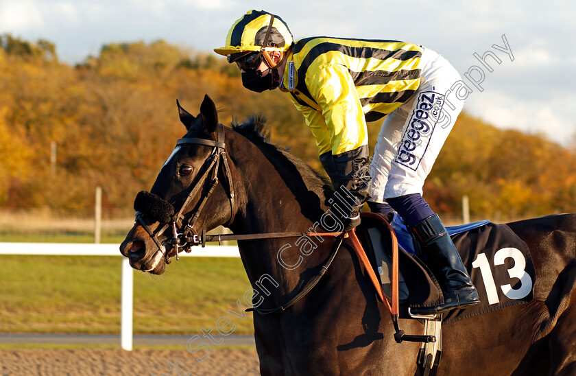
<svg viewBox="0 0 576 376">
<path fill-rule="evenodd" d="M 214 51 L 224 56 L 248 51 L 287 51 L 292 43 L 292 33 L 280 17 L 264 10 L 250 10 L 232 25 L 226 46 Z"/>
</svg>

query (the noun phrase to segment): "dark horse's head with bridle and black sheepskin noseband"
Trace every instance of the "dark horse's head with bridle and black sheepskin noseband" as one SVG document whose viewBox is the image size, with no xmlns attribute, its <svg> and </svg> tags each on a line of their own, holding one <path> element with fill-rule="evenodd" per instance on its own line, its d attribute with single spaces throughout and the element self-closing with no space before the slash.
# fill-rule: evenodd
<svg viewBox="0 0 576 376">
<path fill-rule="evenodd" d="M 177 104 L 187 133 L 152 190 L 136 196 L 136 223 L 120 245 L 132 268 L 153 274 L 162 274 L 170 257 L 192 246 L 196 235 L 230 224 L 235 215 L 233 165 L 226 157 L 224 126 L 218 123 L 214 102 L 206 95 L 196 117 Z"/>
</svg>

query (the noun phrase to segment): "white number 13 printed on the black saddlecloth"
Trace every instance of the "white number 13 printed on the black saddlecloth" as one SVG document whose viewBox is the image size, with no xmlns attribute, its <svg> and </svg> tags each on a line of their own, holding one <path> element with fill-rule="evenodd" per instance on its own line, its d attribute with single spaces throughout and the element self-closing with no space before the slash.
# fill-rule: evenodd
<svg viewBox="0 0 576 376">
<path fill-rule="evenodd" d="M 525 270 L 526 259 L 522 252 L 516 248 L 502 248 L 494 254 L 494 266 L 503 265 L 504 260 L 507 258 L 514 259 L 514 268 L 508 269 L 508 275 L 510 278 L 519 279 L 520 287 L 513 289 L 512 285 L 508 283 L 506 285 L 501 285 L 500 288 L 504 295 L 510 299 L 516 300 L 524 298 L 530 294 L 532 290 L 532 279 Z M 472 267 L 480 268 L 484 286 L 486 287 L 486 294 L 488 294 L 488 303 L 491 305 L 499 303 L 500 299 L 498 298 L 496 283 L 494 283 L 492 270 L 490 270 L 490 263 L 488 263 L 488 258 L 485 253 L 478 254 L 475 261 L 472 263 Z"/>
</svg>

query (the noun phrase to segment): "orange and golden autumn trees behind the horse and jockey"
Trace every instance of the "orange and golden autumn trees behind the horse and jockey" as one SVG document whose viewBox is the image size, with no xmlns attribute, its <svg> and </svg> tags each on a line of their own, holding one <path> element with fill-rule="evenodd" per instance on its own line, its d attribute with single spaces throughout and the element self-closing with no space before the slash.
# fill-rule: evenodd
<svg viewBox="0 0 576 376">
<path fill-rule="evenodd" d="M 0 207 L 91 209 L 96 185 L 108 206 L 132 207 L 184 132 L 176 98 L 195 112 L 206 93 L 220 106 L 221 122 L 263 113 L 273 142 L 320 169 L 311 132 L 288 95 L 244 89 L 223 59 L 160 40 L 105 45 L 99 56 L 71 67 L 46 41 L 3 36 L 0 47 Z M 373 148 L 379 124 L 368 128 Z M 463 194 L 473 215 L 576 211 L 575 164 L 575 148 L 462 114 L 424 197 L 448 213 L 461 210 Z"/>
</svg>

